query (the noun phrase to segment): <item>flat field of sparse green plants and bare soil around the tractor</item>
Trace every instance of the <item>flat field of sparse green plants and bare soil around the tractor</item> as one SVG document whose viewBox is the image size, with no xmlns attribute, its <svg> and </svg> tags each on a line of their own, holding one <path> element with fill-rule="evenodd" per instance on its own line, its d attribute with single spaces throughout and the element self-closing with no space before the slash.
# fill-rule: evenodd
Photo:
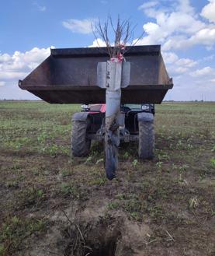
<svg viewBox="0 0 215 256">
<path fill-rule="evenodd" d="M 156 106 L 156 156 L 70 155 L 79 105 L 0 102 L 0 255 L 215 255 L 215 103 Z"/>
</svg>

